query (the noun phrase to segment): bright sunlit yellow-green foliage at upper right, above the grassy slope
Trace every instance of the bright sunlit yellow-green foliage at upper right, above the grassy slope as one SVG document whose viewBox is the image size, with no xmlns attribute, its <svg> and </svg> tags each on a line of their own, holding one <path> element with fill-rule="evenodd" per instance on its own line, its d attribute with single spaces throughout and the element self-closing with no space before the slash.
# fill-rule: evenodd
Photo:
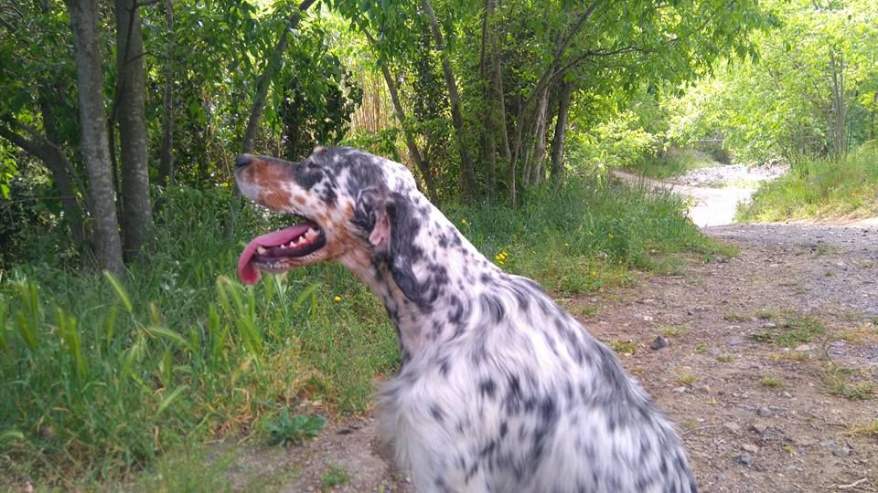
<svg viewBox="0 0 878 493">
<path fill-rule="evenodd" d="M 666 104 L 679 142 L 719 136 L 744 160 L 841 155 L 875 138 L 874 2 L 775 2 L 782 26 L 756 33 L 759 57 L 734 61 Z"/>
</svg>

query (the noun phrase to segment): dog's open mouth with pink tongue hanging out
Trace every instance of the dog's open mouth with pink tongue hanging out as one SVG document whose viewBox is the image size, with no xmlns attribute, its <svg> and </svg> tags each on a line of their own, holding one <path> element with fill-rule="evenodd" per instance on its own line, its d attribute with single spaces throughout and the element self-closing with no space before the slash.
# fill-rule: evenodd
<svg viewBox="0 0 878 493">
<path fill-rule="evenodd" d="M 296 258 L 310 255 L 327 245 L 327 236 L 314 221 L 304 221 L 257 236 L 244 247 L 238 259 L 238 275 L 246 284 L 259 280 L 259 271 L 282 272 L 294 267 Z"/>
</svg>

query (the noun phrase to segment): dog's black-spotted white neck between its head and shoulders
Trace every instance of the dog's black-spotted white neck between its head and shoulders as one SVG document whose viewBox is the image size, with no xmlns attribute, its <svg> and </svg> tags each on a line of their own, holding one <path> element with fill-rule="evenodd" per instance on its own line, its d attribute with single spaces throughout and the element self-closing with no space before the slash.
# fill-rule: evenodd
<svg viewBox="0 0 878 493">
<path fill-rule="evenodd" d="M 465 332 L 479 309 L 481 287 L 503 275 L 433 205 L 420 219 L 422 226 L 412 238 L 420 253 L 412 261 L 417 299 L 407 297 L 393 278 L 393 257 L 360 253 L 339 258 L 384 303 L 396 325 L 403 363 Z"/>
</svg>

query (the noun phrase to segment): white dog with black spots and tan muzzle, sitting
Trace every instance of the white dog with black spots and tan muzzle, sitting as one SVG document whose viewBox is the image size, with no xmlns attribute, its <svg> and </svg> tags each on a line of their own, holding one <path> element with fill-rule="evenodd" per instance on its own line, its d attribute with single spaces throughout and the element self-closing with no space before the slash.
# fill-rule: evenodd
<svg viewBox="0 0 878 493">
<path fill-rule="evenodd" d="M 242 194 L 297 218 L 244 248 L 244 282 L 338 260 L 383 301 L 402 370 L 380 390 L 380 424 L 419 491 L 696 490 L 680 439 L 614 354 L 483 257 L 402 164 L 317 148 L 237 165 Z"/>
</svg>

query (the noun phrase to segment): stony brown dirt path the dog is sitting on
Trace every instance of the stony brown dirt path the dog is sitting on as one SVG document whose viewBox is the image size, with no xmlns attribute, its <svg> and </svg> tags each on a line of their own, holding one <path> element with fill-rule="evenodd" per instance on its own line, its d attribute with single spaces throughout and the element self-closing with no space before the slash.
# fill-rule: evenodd
<svg viewBox="0 0 878 493">
<path fill-rule="evenodd" d="M 723 205 L 703 195 L 706 217 L 725 219 L 704 232 L 738 256 L 563 302 L 600 307 L 585 328 L 678 424 L 702 491 L 878 492 L 878 221 L 710 226 L 737 202 L 713 190 Z M 234 490 L 412 491 L 371 418 L 233 453 Z"/>
</svg>

